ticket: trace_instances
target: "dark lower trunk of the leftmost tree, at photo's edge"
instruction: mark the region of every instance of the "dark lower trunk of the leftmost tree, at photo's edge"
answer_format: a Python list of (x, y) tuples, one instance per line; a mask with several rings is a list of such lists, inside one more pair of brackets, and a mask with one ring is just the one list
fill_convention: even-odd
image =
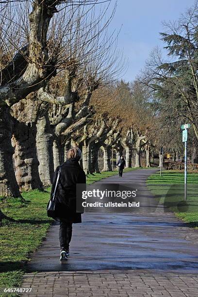
[(14, 148), (11, 138), (10, 108), (7, 105), (0, 106), (0, 196), (20, 197), (13, 166)]

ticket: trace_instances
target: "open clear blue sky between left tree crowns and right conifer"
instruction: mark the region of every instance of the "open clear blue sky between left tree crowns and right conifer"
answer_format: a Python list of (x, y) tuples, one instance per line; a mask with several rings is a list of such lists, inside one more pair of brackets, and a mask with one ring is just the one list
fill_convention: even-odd
[(123, 77), (126, 81), (136, 77), (152, 49), (163, 47), (159, 35), (163, 32), (162, 22), (177, 20), (193, 4), (194, 0), (117, 0), (110, 30), (122, 25), (118, 47), (129, 59), (129, 68)]

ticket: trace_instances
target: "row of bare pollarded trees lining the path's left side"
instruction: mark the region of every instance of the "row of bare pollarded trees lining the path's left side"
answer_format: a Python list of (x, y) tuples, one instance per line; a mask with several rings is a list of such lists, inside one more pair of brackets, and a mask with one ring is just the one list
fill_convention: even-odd
[(110, 4), (1, 3), (0, 196), (50, 185), (71, 146), (82, 149), (86, 173), (99, 171), (99, 148), (112, 170), (113, 145), (127, 166), (132, 148), (140, 166), (144, 148), (149, 166), (153, 114), (145, 87), (116, 82), (126, 63), (108, 32)]

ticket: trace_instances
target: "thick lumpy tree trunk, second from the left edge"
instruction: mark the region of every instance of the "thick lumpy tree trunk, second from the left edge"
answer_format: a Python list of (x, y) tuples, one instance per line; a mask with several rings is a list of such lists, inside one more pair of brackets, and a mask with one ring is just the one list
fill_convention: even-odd
[[(31, 125), (31, 123), (29, 123)], [(15, 121), (12, 144), (15, 148), (14, 164), (16, 181), (20, 190), (43, 190), (38, 172), (38, 159), (36, 156), (36, 125), (32, 127), (23, 122)]]

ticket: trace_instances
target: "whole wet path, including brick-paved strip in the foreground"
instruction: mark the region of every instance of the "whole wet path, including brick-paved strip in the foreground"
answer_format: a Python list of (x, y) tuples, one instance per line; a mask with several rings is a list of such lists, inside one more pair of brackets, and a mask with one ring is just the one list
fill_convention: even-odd
[[(145, 185), (152, 172), (104, 181), (136, 183), (152, 204)], [(55, 223), (28, 264), (23, 287), (32, 286), (30, 296), (198, 296), (198, 232), (160, 206), (152, 213), (85, 213), (70, 249), (60, 264)]]

